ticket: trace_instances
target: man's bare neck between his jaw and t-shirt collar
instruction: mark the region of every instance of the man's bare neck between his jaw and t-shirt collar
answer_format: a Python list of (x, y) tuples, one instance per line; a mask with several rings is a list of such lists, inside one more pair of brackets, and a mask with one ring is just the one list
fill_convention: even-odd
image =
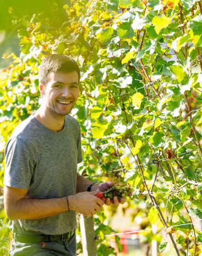
[(65, 116), (58, 115), (51, 109), (45, 108), (43, 105), (36, 111), (34, 116), (41, 124), (55, 132), (61, 131), (64, 127)]

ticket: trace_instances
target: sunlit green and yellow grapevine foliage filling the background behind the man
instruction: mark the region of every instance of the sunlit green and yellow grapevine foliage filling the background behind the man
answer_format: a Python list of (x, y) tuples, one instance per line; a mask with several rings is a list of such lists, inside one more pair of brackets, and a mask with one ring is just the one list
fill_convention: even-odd
[[(61, 19), (43, 10), (20, 16), (14, 5), (8, 9), (18, 28), (20, 54), (5, 54), (11, 64), (0, 73), (0, 186), (5, 143), (40, 104), (41, 59), (63, 53), (81, 67), (81, 95), (72, 111), (81, 126), (84, 161), (79, 172), (100, 174), (96, 179), (101, 181), (103, 175), (114, 178), (120, 169), (134, 189), (128, 203), (134, 209), (132, 218), (146, 214), (147, 228), (201, 219), (201, 3), (51, 3), (53, 17), (63, 13)], [(3, 210), (1, 218), (1, 236), (6, 237)], [(109, 255), (104, 235), (112, 229), (104, 225), (104, 214), (98, 214), (95, 223), (98, 255)], [(184, 255), (187, 250), (189, 255), (199, 254), (201, 233), (194, 225), (166, 230), (167, 242), (158, 238), (160, 252), (174, 243)], [(145, 233), (145, 241), (151, 242), (151, 237)]]

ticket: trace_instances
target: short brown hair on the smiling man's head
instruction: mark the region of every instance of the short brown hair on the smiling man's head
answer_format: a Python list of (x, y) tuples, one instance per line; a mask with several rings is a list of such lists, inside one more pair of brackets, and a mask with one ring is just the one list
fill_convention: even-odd
[(48, 82), (48, 75), (50, 73), (69, 73), (77, 71), (80, 80), (80, 69), (71, 57), (64, 54), (51, 54), (41, 61), (39, 68), (39, 84), (46, 85)]

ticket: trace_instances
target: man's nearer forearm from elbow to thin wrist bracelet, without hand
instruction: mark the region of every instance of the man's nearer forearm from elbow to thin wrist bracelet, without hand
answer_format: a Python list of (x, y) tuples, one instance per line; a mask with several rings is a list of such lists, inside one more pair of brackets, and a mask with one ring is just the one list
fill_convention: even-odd
[(11, 220), (35, 220), (51, 217), (66, 211), (68, 211), (66, 197), (49, 199), (22, 198), (13, 205), (7, 215)]

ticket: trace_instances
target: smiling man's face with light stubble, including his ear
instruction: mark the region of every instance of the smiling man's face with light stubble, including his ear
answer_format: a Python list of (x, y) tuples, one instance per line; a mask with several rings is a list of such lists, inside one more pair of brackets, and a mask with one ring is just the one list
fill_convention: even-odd
[(46, 86), (40, 85), (40, 91), (48, 110), (58, 115), (68, 115), (79, 97), (77, 71), (49, 74)]

